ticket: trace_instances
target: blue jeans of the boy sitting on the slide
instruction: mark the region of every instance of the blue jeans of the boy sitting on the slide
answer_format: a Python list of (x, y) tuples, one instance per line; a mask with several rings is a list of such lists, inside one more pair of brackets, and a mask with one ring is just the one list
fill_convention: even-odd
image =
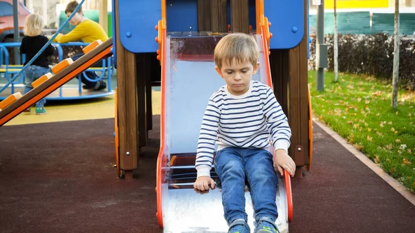
[(246, 182), (250, 189), (255, 220), (278, 217), (275, 197), (277, 173), (273, 166), (273, 155), (265, 149), (225, 147), (216, 152), (214, 158), (216, 174), (222, 184), (222, 205), (228, 224), (241, 218), (248, 221), (245, 212)]

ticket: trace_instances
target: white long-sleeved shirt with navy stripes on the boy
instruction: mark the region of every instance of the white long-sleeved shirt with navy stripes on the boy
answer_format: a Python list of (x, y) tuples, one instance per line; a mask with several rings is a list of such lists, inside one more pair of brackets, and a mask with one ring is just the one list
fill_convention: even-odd
[(224, 147), (290, 147), (291, 129), (269, 86), (252, 81), (247, 93), (232, 95), (225, 86), (209, 100), (196, 153), (197, 176), (210, 176), (215, 144)]

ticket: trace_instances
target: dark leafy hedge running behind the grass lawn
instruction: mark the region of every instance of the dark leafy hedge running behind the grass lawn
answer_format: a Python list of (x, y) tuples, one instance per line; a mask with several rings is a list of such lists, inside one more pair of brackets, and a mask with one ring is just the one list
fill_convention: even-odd
[[(311, 35), (308, 69), (315, 69), (315, 35)], [(324, 38), (329, 45), (329, 66), (333, 71), (333, 35)], [(415, 38), (400, 37), (399, 77), (404, 88), (415, 90)], [(394, 65), (394, 37), (384, 33), (376, 35), (339, 35), (338, 71), (372, 75), (391, 80)]]

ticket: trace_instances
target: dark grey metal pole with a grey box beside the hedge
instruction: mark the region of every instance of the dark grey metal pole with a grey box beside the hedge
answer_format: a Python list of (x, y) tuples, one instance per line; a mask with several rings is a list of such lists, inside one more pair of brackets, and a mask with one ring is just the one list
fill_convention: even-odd
[[(315, 39), (315, 59), (320, 59), (320, 44), (324, 44), (324, 0), (317, 6), (317, 37)], [(317, 49), (318, 48), (318, 49)], [(317, 91), (324, 91), (324, 68), (317, 67)]]

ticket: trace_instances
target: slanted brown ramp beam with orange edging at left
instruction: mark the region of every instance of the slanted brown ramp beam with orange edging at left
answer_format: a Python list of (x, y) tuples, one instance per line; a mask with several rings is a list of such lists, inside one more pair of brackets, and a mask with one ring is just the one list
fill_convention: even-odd
[(110, 55), (111, 48), (112, 39), (109, 38), (89, 53), (86, 53), (84, 56), (77, 59), (73, 64), (62, 69), (62, 71), (59, 71), (59, 73), (53, 75), (53, 77), (50, 77), (50, 79), (46, 80), (36, 88), (33, 88), (33, 90), (20, 97), (5, 109), (2, 109), (0, 111), (0, 127), (9, 120), (12, 120), (12, 118), (15, 118), (15, 116), (19, 115), (24, 109), (32, 106), (37, 101), (73, 79), (73, 77), (76, 77), (96, 62), (99, 62), (102, 58)]

